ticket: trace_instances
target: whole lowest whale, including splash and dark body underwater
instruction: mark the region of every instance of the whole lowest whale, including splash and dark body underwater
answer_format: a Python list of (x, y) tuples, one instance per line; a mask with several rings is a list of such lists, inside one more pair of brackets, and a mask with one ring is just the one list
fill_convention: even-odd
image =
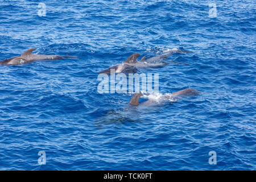
[[(147, 101), (139, 103), (139, 99), (142, 96), (142, 93), (135, 93), (131, 98), (129, 104), (125, 105), (120, 109), (109, 110), (108, 113), (102, 115), (101, 117), (94, 120), (96, 127), (102, 128), (106, 125), (121, 125), (125, 122), (140, 122), (140, 115), (147, 114), (148, 112), (158, 110), (159, 106), (166, 104), (173, 104), (180, 98), (196, 96), (199, 94), (199, 91), (195, 89), (184, 89), (175, 93), (166, 93), (166, 94), (150, 94), (144, 95), (143, 98), (148, 98)], [(153, 109), (153, 110), (152, 110)]]

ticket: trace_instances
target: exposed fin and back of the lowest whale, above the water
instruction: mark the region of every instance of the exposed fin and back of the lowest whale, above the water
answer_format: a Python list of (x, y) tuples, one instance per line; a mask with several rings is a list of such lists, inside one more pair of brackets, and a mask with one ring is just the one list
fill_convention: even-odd
[[(161, 99), (174, 100), (182, 97), (196, 96), (197, 94), (199, 94), (199, 91), (195, 89), (184, 89), (172, 94), (164, 94)], [(139, 98), (141, 98), (141, 96), (142, 96), (141, 92), (135, 93), (134, 96), (131, 98), (129, 104), (133, 106), (138, 106), (138, 105), (151, 105), (151, 104), (156, 104), (156, 102), (158, 102), (156, 100), (147, 100), (145, 102), (139, 103)]]

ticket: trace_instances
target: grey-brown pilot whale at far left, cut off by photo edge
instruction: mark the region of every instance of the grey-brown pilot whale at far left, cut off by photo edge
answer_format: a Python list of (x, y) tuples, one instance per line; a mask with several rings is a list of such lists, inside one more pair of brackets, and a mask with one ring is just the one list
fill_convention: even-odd
[(36, 55), (33, 54), (32, 51), (35, 51), (36, 48), (31, 48), (25, 51), (22, 55), (11, 57), (9, 59), (5, 59), (0, 61), (0, 64), (4, 65), (18, 65), (18, 64), (26, 64), (32, 63), (34, 61), (43, 61), (43, 60), (61, 60), (65, 58), (73, 58), (77, 59), (77, 57), (73, 56), (60, 56), (60, 55)]

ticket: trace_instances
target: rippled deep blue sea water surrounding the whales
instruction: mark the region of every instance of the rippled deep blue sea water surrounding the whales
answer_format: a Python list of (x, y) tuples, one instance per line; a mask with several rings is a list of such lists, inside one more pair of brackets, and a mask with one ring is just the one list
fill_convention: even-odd
[[(1, 0), (0, 60), (33, 47), (80, 59), (0, 66), (0, 169), (255, 170), (255, 5)], [(139, 69), (159, 74), (159, 93), (141, 101), (186, 88), (198, 96), (131, 107), (132, 93), (98, 93), (99, 71), (172, 48), (192, 52)]]

